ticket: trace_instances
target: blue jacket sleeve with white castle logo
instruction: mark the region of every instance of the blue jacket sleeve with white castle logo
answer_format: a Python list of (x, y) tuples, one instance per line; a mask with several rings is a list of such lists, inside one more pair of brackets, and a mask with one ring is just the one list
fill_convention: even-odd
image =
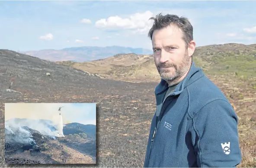
[(236, 167), (241, 162), (238, 118), (228, 101), (211, 101), (193, 118), (198, 167)]

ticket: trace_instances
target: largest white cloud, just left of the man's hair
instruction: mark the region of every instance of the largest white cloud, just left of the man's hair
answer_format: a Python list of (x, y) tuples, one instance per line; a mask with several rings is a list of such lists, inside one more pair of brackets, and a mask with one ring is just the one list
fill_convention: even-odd
[(131, 29), (134, 33), (144, 33), (152, 26), (153, 21), (149, 20), (150, 17), (153, 17), (153, 13), (149, 10), (144, 13), (134, 13), (128, 18), (110, 16), (107, 19), (100, 19), (96, 21), (95, 26), (97, 28)]

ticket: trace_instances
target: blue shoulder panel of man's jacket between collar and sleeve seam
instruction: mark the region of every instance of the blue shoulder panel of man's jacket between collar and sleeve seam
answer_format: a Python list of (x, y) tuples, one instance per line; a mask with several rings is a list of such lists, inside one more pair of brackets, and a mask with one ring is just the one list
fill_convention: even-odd
[(226, 101), (227, 105), (230, 105), (221, 89), (206, 76), (202, 76), (186, 89), (189, 94), (190, 113), (192, 116), (196, 115), (206, 105), (211, 105), (211, 102), (214, 101)]

